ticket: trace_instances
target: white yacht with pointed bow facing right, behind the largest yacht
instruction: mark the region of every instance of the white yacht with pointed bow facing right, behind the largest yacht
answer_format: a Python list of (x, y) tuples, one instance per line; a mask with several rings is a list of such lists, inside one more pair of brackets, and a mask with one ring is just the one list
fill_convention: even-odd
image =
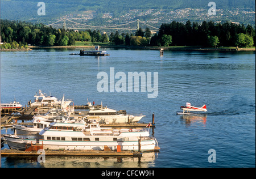
[(131, 114), (119, 114), (117, 110), (109, 108), (90, 109), (88, 114), (90, 119), (96, 120), (99, 123), (107, 124), (127, 123), (128, 120), (130, 122), (138, 122), (144, 117), (144, 115), (133, 116)]

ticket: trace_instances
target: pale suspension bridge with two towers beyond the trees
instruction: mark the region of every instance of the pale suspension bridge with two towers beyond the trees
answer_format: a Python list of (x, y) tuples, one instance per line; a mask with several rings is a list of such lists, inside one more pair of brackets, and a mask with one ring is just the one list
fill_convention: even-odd
[[(69, 23), (66, 23), (69, 22)], [(112, 25), (112, 26), (94, 26), (94, 25), (88, 25), (88, 24), (82, 24), (82, 23), (78, 23), (78, 22), (74, 22), (73, 20), (69, 20), (67, 18), (63, 18), (60, 20), (57, 20), (54, 23), (48, 24), (46, 26), (50, 26), (50, 25), (61, 25), (61, 23), (63, 24), (63, 28), (64, 29), (122, 29), (122, 30), (129, 30), (129, 31), (137, 31), (139, 29), (139, 27), (148, 27), (150, 29), (151, 32), (158, 32), (159, 28), (154, 27), (152, 25), (146, 24), (144, 22), (142, 22), (141, 20), (137, 19), (137, 20), (133, 20), (129, 23), (125, 23), (125, 24), (120, 24), (120, 25)], [(69, 27), (67, 28), (67, 26), (69, 25)], [(145, 29), (142, 30), (144, 31)]]

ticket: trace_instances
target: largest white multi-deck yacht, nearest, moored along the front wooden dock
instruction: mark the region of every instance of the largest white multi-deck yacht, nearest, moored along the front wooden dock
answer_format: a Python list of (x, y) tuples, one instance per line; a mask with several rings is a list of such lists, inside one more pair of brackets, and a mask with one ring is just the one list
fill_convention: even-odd
[(26, 145), (36, 142), (49, 150), (104, 150), (108, 146), (111, 150), (138, 151), (138, 140), (141, 139), (142, 151), (154, 151), (157, 145), (155, 138), (149, 137), (146, 129), (112, 129), (100, 127), (90, 123), (51, 123), (49, 127), (40, 131), (38, 137), (20, 137), (6, 135), (5, 139), (10, 148), (24, 150)]

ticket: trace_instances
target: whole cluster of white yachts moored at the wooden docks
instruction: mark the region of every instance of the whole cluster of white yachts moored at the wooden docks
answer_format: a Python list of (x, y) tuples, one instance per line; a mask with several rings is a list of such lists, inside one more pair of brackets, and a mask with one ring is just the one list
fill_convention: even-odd
[[(138, 128), (150, 128), (150, 123), (146, 126), (137, 125), (137, 122), (144, 116), (127, 115), (126, 110), (120, 110), (122, 113), (120, 114), (117, 110), (104, 107), (102, 103), (94, 108), (94, 102), (92, 105), (88, 100), (84, 106), (88, 106), (89, 111), (75, 112), (75, 105), (73, 108), (69, 106), (72, 101), (65, 101), (64, 95), (62, 100), (57, 100), (54, 96), (44, 95), (41, 90), (39, 90), (39, 95), (36, 94), (34, 97), (35, 102), (28, 101), (30, 106), (28, 108), (26, 106), (22, 114), (16, 115), (13, 122), (11, 120), (14, 114), (9, 120), (4, 121), (5, 125), (1, 126), (1, 128), (13, 127), (14, 129), (14, 134), (2, 135), (1, 147), (6, 142), (10, 148), (10, 150), (5, 150), (6, 153), (3, 152), (4, 155), (27, 155), (28, 151), (46, 149), (51, 151), (47, 155), (56, 154), (56, 151), (57, 155), (77, 155), (77, 150), (82, 150), (110, 153), (81, 152), (81, 155), (134, 156), (134, 152), (121, 151), (154, 152), (160, 150), (157, 140), (149, 137), (150, 134), (146, 129)], [(84, 107), (79, 107), (81, 108)], [(26, 119), (30, 116), (32, 123), (18, 124), (17, 121), (21, 116)], [(100, 123), (111, 125), (113, 128), (102, 127)], [(119, 153), (115, 154), (114, 151)], [(30, 155), (35, 154), (30, 153)]]

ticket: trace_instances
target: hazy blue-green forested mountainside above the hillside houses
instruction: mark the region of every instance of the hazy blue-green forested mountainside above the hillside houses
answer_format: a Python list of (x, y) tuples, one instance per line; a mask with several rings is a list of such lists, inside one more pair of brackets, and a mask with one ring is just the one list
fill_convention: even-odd
[[(93, 18), (101, 18), (102, 14), (112, 14), (118, 18), (127, 14), (130, 10), (164, 9), (175, 10), (177, 8), (205, 8), (208, 10), (210, 0), (42, 0), (46, 4), (46, 15), (39, 16), (38, 2), (32, 0), (2, 0), (1, 19), (24, 20), (28, 22), (41, 22), (47, 24), (65, 15), (83, 14), (85, 11), (93, 11)], [(233, 10), (234, 8), (249, 8), (255, 11), (254, 0), (214, 0), (216, 8)]]

